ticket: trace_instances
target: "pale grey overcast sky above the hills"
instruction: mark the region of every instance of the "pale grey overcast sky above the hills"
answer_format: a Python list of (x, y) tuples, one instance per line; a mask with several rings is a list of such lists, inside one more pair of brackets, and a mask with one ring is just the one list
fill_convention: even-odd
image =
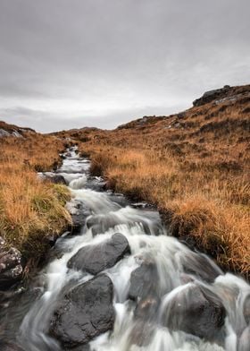
[(114, 128), (250, 83), (249, 0), (0, 0), (0, 120)]

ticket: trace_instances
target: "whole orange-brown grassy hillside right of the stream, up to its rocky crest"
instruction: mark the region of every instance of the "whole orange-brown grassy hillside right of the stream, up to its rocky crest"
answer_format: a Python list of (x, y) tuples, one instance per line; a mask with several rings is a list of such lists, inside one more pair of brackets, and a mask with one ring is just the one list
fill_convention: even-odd
[(175, 115), (56, 135), (79, 141), (115, 191), (154, 203), (172, 235), (249, 275), (250, 85), (206, 92)]

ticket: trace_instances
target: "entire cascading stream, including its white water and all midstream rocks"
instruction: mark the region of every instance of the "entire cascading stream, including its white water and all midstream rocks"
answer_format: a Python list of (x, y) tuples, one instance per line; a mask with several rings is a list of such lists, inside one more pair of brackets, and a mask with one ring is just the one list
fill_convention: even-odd
[(73, 231), (2, 309), (1, 350), (249, 351), (246, 281), (168, 235), (154, 208), (104, 190), (89, 168), (67, 150), (56, 173), (71, 189)]

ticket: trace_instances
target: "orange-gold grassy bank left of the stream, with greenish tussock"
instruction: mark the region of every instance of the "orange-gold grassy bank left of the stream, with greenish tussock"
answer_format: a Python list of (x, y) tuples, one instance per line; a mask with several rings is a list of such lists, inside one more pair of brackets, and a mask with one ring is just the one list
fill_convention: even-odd
[(68, 189), (37, 178), (37, 171), (60, 163), (63, 141), (27, 133), (25, 139), (6, 137), (0, 142), (0, 235), (27, 261), (39, 261), (49, 247), (49, 236), (61, 234), (71, 221), (64, 209)]

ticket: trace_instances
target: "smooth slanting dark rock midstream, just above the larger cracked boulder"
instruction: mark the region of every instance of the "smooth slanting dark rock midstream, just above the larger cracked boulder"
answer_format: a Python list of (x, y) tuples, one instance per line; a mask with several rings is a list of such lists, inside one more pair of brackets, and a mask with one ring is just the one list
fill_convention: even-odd
[(104, 243), (87, 245), (79, 249), (67, 266), (74, 270), (84, 270), (97, 274), (114, 266), (122, 257), (129, 253), (129, 242), (124, 235), (114, 234)]

